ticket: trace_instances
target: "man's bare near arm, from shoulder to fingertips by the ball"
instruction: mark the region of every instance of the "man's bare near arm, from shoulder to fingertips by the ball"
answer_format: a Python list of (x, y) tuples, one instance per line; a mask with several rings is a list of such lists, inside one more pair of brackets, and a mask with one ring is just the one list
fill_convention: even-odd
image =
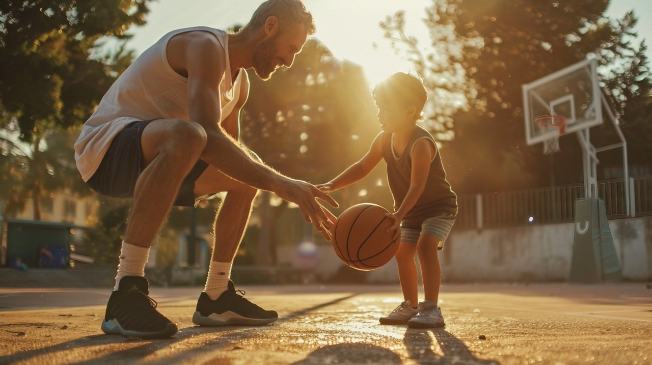
[(316, 197), (337, 207), (334, 199), (308, 182), (289, 179), (252, 160), (220, 125), (219, 84), (224, 72), (231, 70), (226, 69), (224, 50), (218, 47), (215, 36), (203, 31), (182, 33), (171, 38), (167, 55), (172, 68), (188, 78), (190, 120), (206, 131), (201, 158), (237, 181), (297, 204), (306, 221), (322, 231), (327, 217)]

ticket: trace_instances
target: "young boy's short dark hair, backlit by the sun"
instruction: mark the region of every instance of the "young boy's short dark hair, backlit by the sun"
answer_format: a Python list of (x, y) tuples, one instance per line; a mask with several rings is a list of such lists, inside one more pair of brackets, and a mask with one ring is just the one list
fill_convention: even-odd
[(373, 93), (376, 100), (391, 100), (406, 108), (415, 106), (417, 116), (421, 115), (428, 98), (428, 93), (421, 80), (404, 72), (396, 72), (396, 74), (377, 83)]

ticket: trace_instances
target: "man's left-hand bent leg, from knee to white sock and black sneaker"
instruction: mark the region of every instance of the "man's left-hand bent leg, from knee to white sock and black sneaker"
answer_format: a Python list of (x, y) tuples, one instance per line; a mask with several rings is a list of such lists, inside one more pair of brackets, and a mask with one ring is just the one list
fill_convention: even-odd
[(177, 332), (176, 325), (156, 311), (156, 302), (149, 298), (145, 263), (149, 246), (170, 211), (181, 182), (205, 144), (203, 128), (182, 119), (159, 119), (142, 130), (141, 161), (134, 163), (140, 163), (143, 170), (136, 181), (115, 290), (102, 322), (104, 332), (141, 338), (166, 337)]

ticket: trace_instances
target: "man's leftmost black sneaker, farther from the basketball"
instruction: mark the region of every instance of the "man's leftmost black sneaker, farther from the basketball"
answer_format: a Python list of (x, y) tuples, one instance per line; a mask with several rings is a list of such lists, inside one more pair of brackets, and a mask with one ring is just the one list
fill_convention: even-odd
[(120, 279), (117, 291), (111, 293), (106, 304), (102, 331), (125, 337), (170, 337), (177, 333), (177, 325), (158, 313), (156, 301), (149, 297), (149, 284), (142, 276)]

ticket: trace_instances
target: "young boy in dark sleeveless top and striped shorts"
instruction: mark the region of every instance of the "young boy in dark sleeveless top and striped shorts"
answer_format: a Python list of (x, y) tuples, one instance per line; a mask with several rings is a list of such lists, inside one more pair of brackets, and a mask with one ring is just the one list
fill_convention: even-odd
[[(368, 175), (381, 159), (387, 162), (395, 210), (387, 214), (394, 221), (388, 231), (393, 230), (395, 237), (400, 235), (396, 263), (404, 302), (387, 317), (380, 318), (383, 325), (444, 325), (441, 308), (437, 306), (441, 282), (437, 251), (443, 248), (455, 222), (457, 196), (446, 180), (434, 139), (416, 124), (426, 98), (421, 81), (408, 74), (399, 72), (378, 83), (374, 99), (383, 132), (376, 136), (361, 160), (330, 182), (318, 185), (325, 192), (333, 192)], [(421, 264), (423, 302), (417, 301), (415, 253)]]

